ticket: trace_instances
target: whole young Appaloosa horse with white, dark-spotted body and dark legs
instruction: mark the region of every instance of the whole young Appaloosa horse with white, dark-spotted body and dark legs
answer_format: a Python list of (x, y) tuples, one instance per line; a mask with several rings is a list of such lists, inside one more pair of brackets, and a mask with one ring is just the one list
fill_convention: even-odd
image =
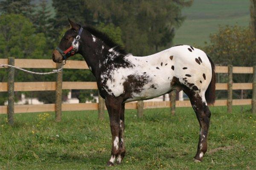
[(194, 159), (202, 161), (211, 116), (207, 104), (215, 102), (215, 67), (207, 54), (189, 45), (176, 45), (157, 54), (136, 57), (127, 54), (108, 35), (70, 20), (69, 23), (71, 28), (52, 52), (52, 60), (62, 62), (79, 53), (96, 77), (112, 133), (107, 165), (113, 165), (115, 159), (120, 164), (125, 156), (125, 103), (152, 99), (173, 90), (183, 90), (196, 113), (200, 134)]

